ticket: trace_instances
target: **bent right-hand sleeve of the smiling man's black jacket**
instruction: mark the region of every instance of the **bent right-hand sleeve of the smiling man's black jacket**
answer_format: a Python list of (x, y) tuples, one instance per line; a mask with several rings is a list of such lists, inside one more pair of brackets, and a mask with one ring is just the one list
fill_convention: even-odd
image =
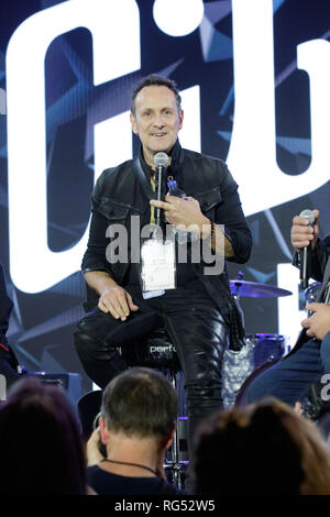
[(216, 210), (216, 221), (224, 226), (224, 234), (230, 240), (234, 256), (227, 258), (243, 264), (248, 262), (252, 250), (252, 235), (242, 210), (238, 185), (224, 163), (220, 186), (222, 202)]

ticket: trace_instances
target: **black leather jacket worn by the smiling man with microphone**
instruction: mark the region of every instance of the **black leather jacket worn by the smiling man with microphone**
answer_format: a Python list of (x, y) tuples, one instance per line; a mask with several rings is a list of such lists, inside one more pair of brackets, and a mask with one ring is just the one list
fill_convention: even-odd
[[(140, 165), (138, 163), (140, 162)], [(128, 231), (129, 257), (131, 217), (139, 216), (141, 227), (150, 222), (150, 199), (155, 194), (150, 185), (150, 170), (142, 157), (124, 162), (114, 168), (106, 169), (99, 177), (92, 193), (92, 218), (87, 251), (82, 258), (82, 271), (106, 271), (122, 285), (129, 264), (117, 262), (110, 264), (106, 257), (106, 249), (110, 239), (106, 237), (107, 228), (113, 223), (124, 224)], [(178, 141), (172, 151), (170, 170), (178, 186), (200, 204), (202, 213), (219, 224), (224, 224), (226, 235), (232, 243), (233, 262), (244, 263), (249, 260), (252, 249), (252, 237), (241, 208), (238, 185), (233, 180), (226, 163), (184, 150)], [(204, 264), (194, 264), (195, 272), (210, 296), (217, 302), (222, 316), (230, 323), (233, 312), (238, 317), (235, 304), (230, 295), (227, 271), (221, 275), (204, 275)], [(97, 305), (98, 296), (88, 288), (86, 310)], [(234, 323), (240, 321), (234, 318)], [(240, 318), (239, 318), (240, 319)]]

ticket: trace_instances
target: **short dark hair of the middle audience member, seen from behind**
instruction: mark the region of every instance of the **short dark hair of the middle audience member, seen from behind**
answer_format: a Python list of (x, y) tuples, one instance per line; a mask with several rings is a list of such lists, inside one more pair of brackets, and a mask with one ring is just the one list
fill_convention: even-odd
[(133, 367), (106, 387), (101, 411), (111, 432), (129, 438), (152, 438), (165, 444), (177, 418), (177, 395), (161, 373)]

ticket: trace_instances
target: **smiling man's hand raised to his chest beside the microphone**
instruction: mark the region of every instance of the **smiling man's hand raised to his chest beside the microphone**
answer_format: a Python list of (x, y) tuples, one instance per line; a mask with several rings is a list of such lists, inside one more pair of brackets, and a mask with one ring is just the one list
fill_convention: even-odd
[(166, 220), (179, 230), (191, 231), (200, 237), (202, 227), (210, 227), (209, 219), (200, 210), (199, 201), (193, 197), (183, 199), (176, 196), (166, 196), (165, 201), (152, 199), (150, 204), (162, 208)]

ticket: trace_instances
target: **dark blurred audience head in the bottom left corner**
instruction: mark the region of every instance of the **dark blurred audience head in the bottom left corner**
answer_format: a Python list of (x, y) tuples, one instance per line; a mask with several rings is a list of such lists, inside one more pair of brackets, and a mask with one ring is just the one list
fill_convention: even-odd
[(85, 494), (76, 415), (57, 386), (28, 377), (0, 408), (1, 494)]

